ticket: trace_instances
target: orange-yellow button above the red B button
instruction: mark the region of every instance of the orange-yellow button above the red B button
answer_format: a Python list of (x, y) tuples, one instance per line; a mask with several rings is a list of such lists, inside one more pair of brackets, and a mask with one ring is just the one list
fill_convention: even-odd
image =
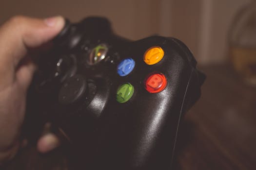
[(148, 65), (157, 64), (163, 55), (164, 51), (161, 47), (151, 47), (144, 54), (144, 62)]

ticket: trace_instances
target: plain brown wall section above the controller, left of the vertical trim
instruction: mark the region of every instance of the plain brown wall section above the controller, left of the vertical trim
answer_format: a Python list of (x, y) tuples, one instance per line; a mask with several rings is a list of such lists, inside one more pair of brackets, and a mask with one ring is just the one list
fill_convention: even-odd
[(0, 23), (13, 15), (62, 15), (72, 21), (87, 16), (108, 17), (118, 34), (138, 39), (157, 32), (158, 0), (4, 0)]

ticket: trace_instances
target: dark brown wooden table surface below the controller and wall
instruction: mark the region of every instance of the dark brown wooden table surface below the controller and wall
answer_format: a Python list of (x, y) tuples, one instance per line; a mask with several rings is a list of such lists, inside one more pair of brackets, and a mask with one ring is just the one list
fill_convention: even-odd
[[(180, 170), (256, 170), (256, 87), (227, 65), (202, 67), (202, 96), (180, 129)], [(48, 154), (28, 146), (5, 170), (68, 170), (62, 148)]]

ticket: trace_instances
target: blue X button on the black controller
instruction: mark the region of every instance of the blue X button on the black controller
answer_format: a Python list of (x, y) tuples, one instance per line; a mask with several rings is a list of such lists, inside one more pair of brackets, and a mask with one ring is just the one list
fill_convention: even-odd
[(120, 76), (126, 76), (132, 72), (135, 67), (135, 61), (132, 58), (126, 58), (122, 60), (118, 65), (118, 74)]

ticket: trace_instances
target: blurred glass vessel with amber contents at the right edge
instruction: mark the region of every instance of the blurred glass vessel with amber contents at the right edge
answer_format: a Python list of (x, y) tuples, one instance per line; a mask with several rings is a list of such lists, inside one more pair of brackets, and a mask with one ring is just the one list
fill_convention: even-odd
[(236, 72), (246, 84), (256, 86), (256, 0), (238, 11), (229, 45)]

